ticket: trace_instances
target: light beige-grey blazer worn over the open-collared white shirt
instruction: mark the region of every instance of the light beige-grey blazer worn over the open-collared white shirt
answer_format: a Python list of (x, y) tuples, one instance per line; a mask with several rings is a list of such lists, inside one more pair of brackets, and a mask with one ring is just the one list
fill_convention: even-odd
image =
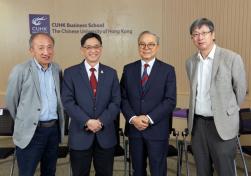
[[(190, 82), (190, 102), (188, 129), (192, 132), (195, 98), (198, 84), (198, 53), (186, 61), (186, 71)], [(239, 130), (239, 109), (247, 91), (244, 64), (240, 55), (216, 46), (210, 98), (214, 123), (223, 140), (234, 138)]]

